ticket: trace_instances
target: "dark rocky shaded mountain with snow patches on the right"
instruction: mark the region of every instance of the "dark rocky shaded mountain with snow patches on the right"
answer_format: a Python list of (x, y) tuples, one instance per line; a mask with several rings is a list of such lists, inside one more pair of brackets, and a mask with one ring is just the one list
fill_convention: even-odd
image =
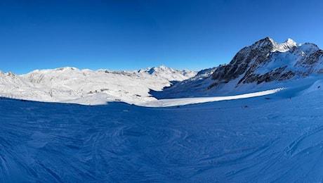
[(212, 73), (197, 73), (195, 77), (173, 84), (163, 92), (154, 92), (154, 95), (166, 99), (270, 88), (278, 82), (323, 73), (323, 51), (312, 43), (296, 44), (287, 39), (278, 44), (266, 37), (238, 51), (230, 63), (209, 71)]

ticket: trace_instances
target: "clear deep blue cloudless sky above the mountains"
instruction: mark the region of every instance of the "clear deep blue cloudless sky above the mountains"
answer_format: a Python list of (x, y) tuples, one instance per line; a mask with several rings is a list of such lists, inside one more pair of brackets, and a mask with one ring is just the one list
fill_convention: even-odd
[(0, 1), (0, 70), (229, 63), (258, 39), (323, 46), (323, 1)]

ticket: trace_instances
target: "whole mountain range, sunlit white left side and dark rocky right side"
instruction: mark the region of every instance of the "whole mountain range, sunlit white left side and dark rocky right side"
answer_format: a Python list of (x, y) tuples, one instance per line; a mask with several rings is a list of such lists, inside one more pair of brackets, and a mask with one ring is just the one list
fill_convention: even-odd
[(228, 64), (193, 72), (162, 65), (138, 71), (34, 70), (0, 72), (0, 95), (33, 101), (95, 105), (107, 101), (145, 103), (157, 99), (221, 96), (272, 89), (289, 80), (323, 73), (323, 51), (292, 39), (265, 37), (246, 46)]

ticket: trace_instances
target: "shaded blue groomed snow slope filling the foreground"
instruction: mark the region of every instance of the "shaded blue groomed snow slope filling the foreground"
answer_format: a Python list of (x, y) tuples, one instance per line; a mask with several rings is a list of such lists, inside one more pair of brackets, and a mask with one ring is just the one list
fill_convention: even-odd
[(323, 82), (303, 81), (166, 108), (3, 98), (0, 182), (322, 182)]

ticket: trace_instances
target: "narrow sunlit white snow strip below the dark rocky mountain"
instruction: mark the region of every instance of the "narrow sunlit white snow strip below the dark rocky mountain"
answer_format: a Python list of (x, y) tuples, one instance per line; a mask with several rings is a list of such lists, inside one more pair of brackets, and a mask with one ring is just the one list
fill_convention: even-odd
[(265, 96), (269, 94), (275, 94), (285, 88), (269, 89), (263, 92), (254, 92), (249, 94), (239, 94), (234, 96), (213, 96), (213, 97), (194, 97), (194, 98), (182, 98), (182, 99), (162, 99), (158, 101), (152, 101), (149, 103), (136, 103), (138, 106), (146, 107), (171, 107), (171, 106), (183, 106), (195, 103), (205, 103), (211, 101), (226, 101), (235, 99), (246, 99), (255, 96)]

